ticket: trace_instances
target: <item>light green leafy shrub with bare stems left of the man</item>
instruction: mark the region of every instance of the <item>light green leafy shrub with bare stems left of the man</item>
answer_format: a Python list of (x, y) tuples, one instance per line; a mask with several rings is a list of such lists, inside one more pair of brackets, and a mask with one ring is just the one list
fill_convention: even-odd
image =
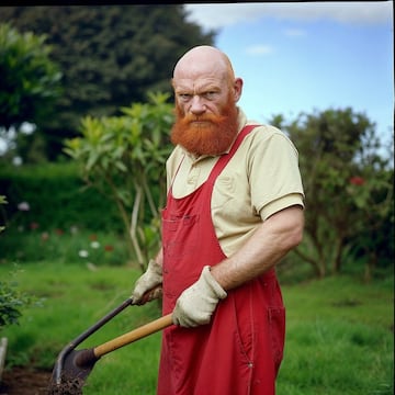
[(160, 238), (159, 210), (166, 198), (165, 163), (172, 149), (173, 123), (169, 95), (150, 93), (149, 99), (122, 108), (122, 116), (84, 117), (82, 136), (65, 143), (86, 183), (114, 201), (143, 269)]

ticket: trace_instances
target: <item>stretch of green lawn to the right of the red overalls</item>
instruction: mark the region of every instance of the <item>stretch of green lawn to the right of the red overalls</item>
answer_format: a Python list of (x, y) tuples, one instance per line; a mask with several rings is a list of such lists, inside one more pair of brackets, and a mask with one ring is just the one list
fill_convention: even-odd
[(285, 287), (279, 394), (393, 394), (393, 284), (337, 276)]

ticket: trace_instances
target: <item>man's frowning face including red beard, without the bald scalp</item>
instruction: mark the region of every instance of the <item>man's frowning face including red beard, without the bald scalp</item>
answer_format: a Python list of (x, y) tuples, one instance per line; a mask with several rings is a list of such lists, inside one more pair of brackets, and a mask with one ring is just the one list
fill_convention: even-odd
[(238, 132), (233, 89), (219, 72), (190, 76), (173, 80), (177, 121), (171, 140), (198, 156), (223, 154)]

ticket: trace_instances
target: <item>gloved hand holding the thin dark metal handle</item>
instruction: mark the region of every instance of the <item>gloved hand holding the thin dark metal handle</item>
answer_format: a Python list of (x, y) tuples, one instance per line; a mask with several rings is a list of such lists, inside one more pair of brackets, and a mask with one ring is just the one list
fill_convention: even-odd
[(138, 278), (132, 292), (132, 304), (142, 305), (161, 296), (162, 268), (154, 259), (146, 272)]

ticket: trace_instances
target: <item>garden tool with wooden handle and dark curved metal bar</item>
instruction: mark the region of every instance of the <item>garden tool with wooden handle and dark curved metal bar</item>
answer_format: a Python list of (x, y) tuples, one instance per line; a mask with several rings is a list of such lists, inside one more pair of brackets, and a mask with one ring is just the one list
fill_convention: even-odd
[(106, 353), (129, 345), (148, 335), (153, 335), (172, 324), (171, 314), (160, 317), (151, 323), (143, 325), (129, 332), (91, 349), (76, 350), (75, 348), (95, 332), (111, 318), (129, 306), (132, 298), (127, 298), (119, 307), (113, 309), (97, 324), (72, 340), (59, 353), (54, 365), (48, 394), (49, 395), (80, 395), (86, 379), (92, 371), (94, 363)]

